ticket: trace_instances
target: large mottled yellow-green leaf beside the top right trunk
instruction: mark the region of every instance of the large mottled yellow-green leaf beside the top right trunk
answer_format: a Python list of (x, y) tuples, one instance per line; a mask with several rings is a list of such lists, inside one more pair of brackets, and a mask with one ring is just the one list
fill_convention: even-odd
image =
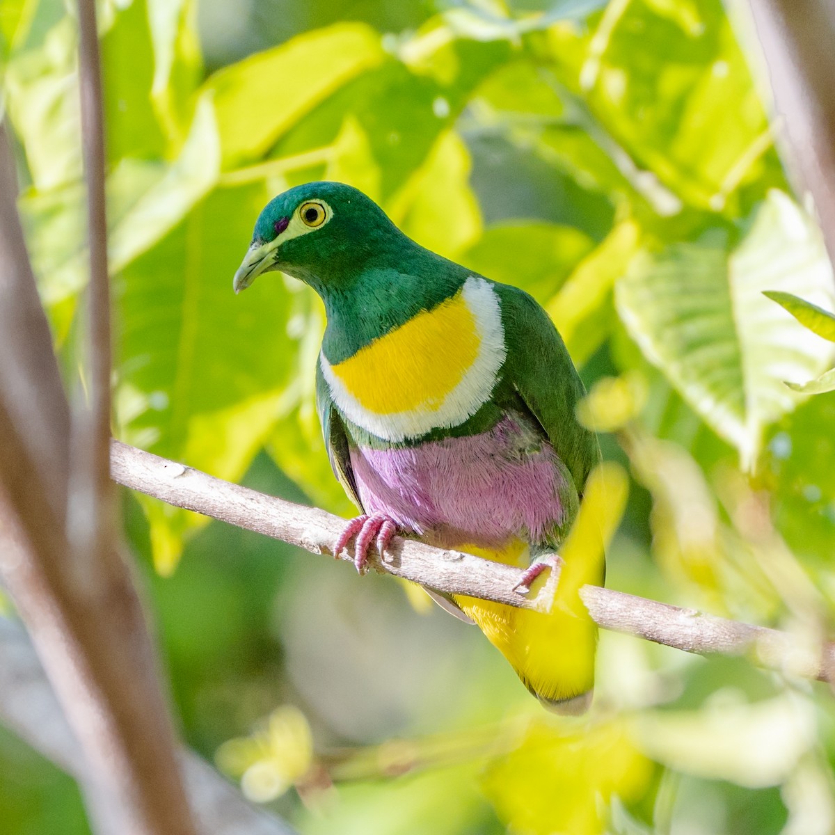
[[(720, 0), (610, 3), (589, 36), (549, 36), (560, 78), (620, 156), (681, 199), (723, 210), (765, 172), (771, 133)], [(759, 195), (767, 185), (781, 175)]]

